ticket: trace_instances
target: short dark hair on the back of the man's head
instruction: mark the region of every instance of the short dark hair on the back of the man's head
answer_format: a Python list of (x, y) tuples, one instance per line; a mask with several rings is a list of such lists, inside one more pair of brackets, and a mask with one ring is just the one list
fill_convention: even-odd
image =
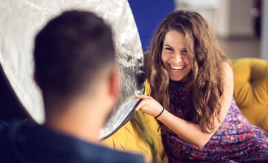
[(111, 28), (92, 12), (63, 12), (36, 36), (35, 75), (44, 96), (79, 94), (114, 60)]

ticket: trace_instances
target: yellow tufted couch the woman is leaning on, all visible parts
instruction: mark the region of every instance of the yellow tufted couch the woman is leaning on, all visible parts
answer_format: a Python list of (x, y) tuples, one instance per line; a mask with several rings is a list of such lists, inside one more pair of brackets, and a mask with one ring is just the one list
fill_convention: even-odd
[[(268, 62), (257, 58), (232, 60), (234, 98), (249, 122), (268, 132)], [(148, 95), (148, 85), (145, 93)], [(102, 143), (115, 150), (142, 153), (147, 162), (168, 162), (155, 118), (135, 112), (113, 136)]]

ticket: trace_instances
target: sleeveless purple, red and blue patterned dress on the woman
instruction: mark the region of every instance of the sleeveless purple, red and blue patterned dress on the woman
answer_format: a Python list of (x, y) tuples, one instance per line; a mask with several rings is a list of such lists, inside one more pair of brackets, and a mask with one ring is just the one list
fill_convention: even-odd
[[(169, 112), (185, 119), (188, 99), (183, 86), (170, 81)], [(225, 120), (204, 147), (184, 141), (161, 123), (160, 127), (169, 162), (268, 162), (268, 135), (249, 124), (234, 99)]]

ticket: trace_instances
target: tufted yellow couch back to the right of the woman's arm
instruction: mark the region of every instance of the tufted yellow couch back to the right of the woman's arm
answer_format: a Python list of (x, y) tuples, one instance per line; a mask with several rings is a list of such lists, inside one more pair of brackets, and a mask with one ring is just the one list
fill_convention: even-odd
[(250, 123), (268, 132), (268, 62), (240, 58), (232, 66), (236, 104)]

